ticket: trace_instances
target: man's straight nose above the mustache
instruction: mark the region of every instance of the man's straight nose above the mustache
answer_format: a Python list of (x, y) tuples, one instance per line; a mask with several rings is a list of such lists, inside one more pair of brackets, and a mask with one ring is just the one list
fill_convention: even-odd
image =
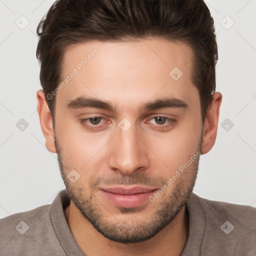
[(117, 134), (108, 145), (108, 164), (116, 172), (129, 175), (134, 171), (144, 170), (149, 165), (148, 149), (143, 144), (141, 134), (134, 125), (123, 131), (116, 127)]

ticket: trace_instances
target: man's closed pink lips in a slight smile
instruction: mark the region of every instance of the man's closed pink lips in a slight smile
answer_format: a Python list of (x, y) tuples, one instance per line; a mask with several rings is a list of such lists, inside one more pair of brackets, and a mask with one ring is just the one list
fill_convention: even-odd
[(101, 193), (111, 203), (119, 207), (137, 207), (149, 202), (149, 196), (157, 189), (143, 186), (114, 186), (102, 187)]

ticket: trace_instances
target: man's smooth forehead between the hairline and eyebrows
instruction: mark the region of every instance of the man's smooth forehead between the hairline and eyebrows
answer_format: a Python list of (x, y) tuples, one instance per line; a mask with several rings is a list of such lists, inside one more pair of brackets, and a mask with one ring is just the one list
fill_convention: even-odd
[(199, 101), (191, 83), (192, 57), (186, 43), (156, 38), (74, 44), (63, 55), (64, 86), (56, 100), (64, 105), (96, 96), (123, 106), (162, 96)]

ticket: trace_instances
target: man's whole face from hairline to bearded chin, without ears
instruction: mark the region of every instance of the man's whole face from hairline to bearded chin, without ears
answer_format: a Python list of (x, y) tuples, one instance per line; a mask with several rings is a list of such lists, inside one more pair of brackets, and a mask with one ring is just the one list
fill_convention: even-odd
[(183, 42), (153, 38), (65, 51), (68, 81), (55, 95), (59, 167), (71, 201), (108, 239), (154, 236), (192, 191), (202, 142), (192, 55)]

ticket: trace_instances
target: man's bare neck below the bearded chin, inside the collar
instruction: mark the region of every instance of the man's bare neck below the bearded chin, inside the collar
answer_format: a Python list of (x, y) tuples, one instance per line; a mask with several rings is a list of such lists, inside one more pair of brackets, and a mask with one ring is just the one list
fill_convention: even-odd
[(76, 206), (64, 210), (65, 218), (76, 243), (86, 255), (181, 255), (188, 236), (188, 213), (184, 206), (175, 219), (152, 238), (134, 244), (111, 241), (87, 221)]

